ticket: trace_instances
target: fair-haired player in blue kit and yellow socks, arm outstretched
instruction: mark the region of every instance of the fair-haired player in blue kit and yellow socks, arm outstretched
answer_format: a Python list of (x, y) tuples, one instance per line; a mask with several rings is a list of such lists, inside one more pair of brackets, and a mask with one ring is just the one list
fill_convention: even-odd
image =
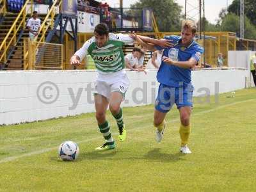
[(191, 68), (200, 60), (204, 49), (194, 41), (196, 24), (192, 20), (182, 21), (181, 36), (166, 36), (172, 46), (164, 48), (154, 46), (155, 40), (145, 36), (133, 35), (136, 40), (152, 51), (164, 49), (162, 62), (157, 72), (159, 90), (154, 112), (154, 126), (156, 127), (156, 141), (163, 139), (166, 113), (176, 104), (180, 112), (180, 152), (190, 154), (188, 139), (191, 130), (189, 118), (193, 107), (191, 84)]

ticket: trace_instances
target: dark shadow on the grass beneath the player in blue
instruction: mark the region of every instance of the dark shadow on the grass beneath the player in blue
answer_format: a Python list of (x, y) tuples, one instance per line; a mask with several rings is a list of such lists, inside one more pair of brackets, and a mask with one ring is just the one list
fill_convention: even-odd
[(166, 154), (160, 152), (160, 148), (154, 148), (147, 152), (143, 157), (144, 159), (150, 159), (153, 161), (165, 161), (165, 162), (174, 162), (174, 161), (184, 161), (184, 159), (180, 158), (185, 156), (185, 154), (182, 154), (180, 152), (177, 152), (176, 154)]

